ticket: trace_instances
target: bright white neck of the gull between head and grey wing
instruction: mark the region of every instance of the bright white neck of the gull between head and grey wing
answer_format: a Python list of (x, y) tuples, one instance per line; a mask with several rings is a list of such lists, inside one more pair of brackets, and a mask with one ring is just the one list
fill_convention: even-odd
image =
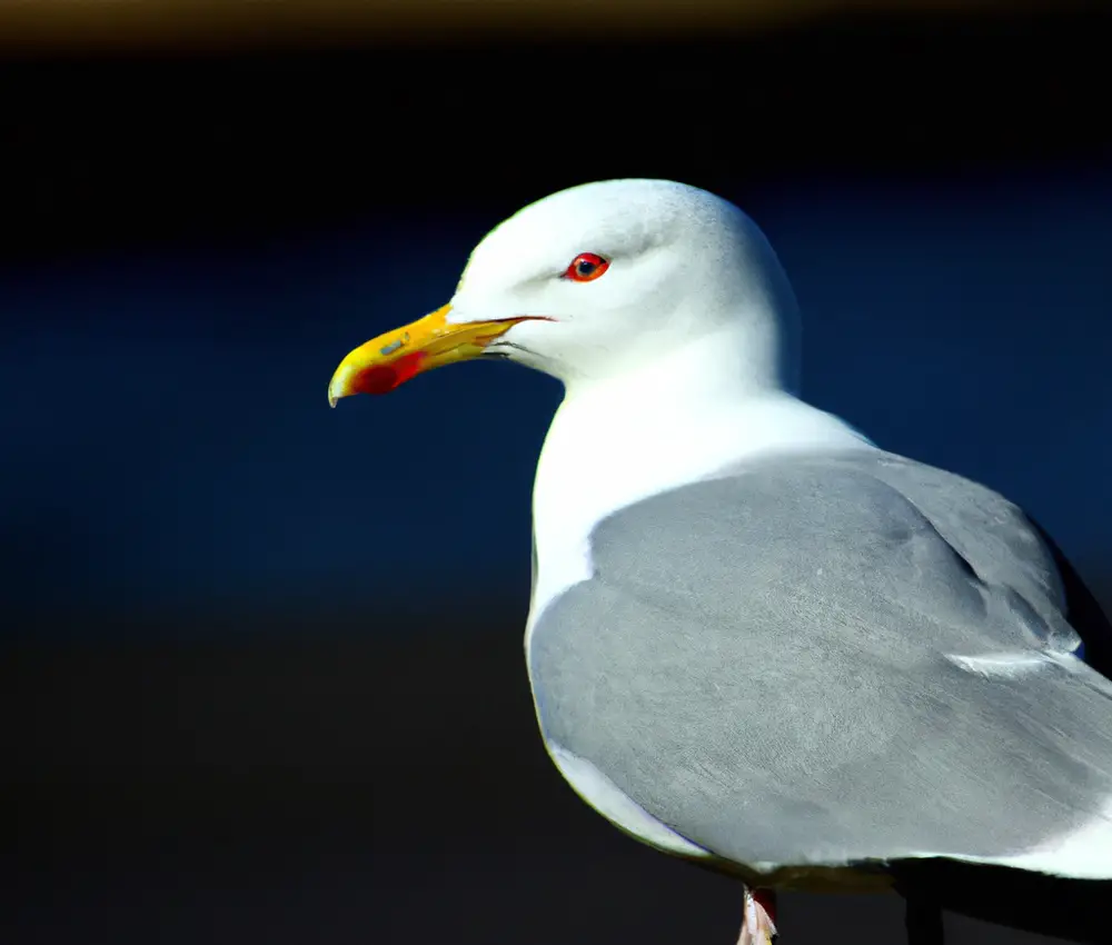
[(590, 576), (588, 539), (612, 513), (757, 455), (870, 446), (774, 380), (737, 372), (714, 348), (722, 340), (707, 338), (644, 369), (568, 387), (533, 490), (530, 631), (548, 603)]

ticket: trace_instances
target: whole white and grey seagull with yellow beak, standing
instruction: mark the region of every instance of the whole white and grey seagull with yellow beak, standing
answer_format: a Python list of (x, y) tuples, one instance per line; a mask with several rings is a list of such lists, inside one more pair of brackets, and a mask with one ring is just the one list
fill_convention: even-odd
[[(1112, 627), (1050, 536), (802, 400), (800, 317), (733, 203), (546, 197), (450, 301), (357, 347), (329, 402), (471, 358), (560, 380), (525, 656), (545, 747), (637, 840), (775, 892), (895, 892), (1112, 941)], [(1103, 916), (1103, 918), (1102, 918)]]

